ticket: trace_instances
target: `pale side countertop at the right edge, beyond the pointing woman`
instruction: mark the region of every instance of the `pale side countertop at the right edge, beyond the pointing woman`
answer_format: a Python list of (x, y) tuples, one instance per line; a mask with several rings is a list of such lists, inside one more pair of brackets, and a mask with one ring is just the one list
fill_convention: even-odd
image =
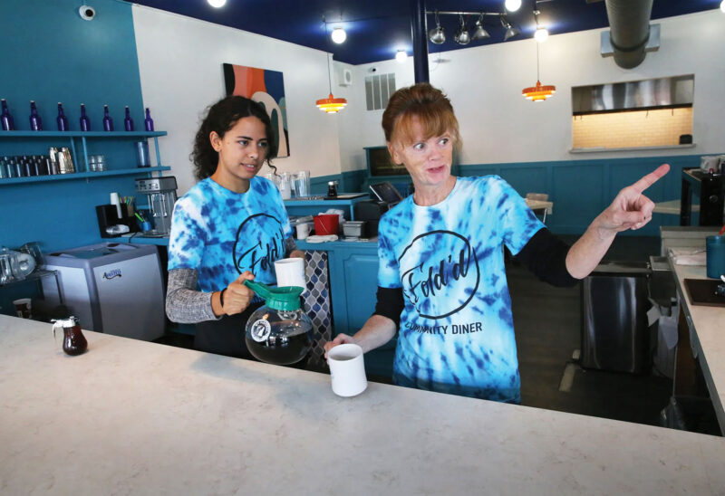
[[(675, 265), (677, 292), (683, 303), (682, 309), (689, 320), (691, 346), (700, 361), (710, 399), (718, 416), (720, 431), (725, 433), (725, 307), (693, 305), (685, 289), (685, 279), (707, 279), (705, 267), (700, 265)], [(723, 461), (725, 463), (725, 460)]]

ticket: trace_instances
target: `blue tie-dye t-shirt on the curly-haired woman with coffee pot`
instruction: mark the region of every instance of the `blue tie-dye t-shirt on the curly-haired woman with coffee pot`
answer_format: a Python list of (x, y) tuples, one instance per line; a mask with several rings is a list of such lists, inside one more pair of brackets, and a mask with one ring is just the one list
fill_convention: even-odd
[(174, 205), (169, 271), (198, 271), (200, 291), (220, 291), (250, 271), (255, 281), (275, 284), (275, 261), (285, 258), (292, 235), (282, 196), (272, 182), (252, 177), (235, 193), (208, 177)]

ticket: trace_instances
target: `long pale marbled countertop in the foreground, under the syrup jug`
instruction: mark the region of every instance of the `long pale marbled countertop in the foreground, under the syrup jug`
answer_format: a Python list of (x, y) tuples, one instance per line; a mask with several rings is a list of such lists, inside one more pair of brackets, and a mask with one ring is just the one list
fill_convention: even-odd
[(5, 494), (723, 494), (725, 439), (0, 316)]

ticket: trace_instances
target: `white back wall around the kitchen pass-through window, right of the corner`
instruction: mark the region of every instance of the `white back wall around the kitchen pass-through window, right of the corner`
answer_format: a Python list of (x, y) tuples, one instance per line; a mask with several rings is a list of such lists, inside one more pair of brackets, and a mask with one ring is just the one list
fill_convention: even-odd
[[(555, 84), (556, 95), (543, 103), (532, 103), (521, 96), (523, 88), (536, 83), (533, 39), (430, 54), (430, 83), (449, 95), (459, 119), (463, 138), (459, 163), (705, 155), (725, 151), (725, 57), (721, 53), (725, 46), (725, 14), (715, 9), (653, 23), (662, 27), (660, 49), (647, 53), (644, 62), (629, 71), (618, 67), (612, 57), (599, 54), (599, 33), (604, 30), (549, 36), (541, 45), (541, 82)], [(437, 62), (439, 59), (443, 62)], [(361, 104), (350, 105), (341, 115), (343, 170), (365, 167), (362, 147), (384, 144), (382, 110), (364, 110), (362, 81), (372, 67), (378, 73), (395, 72), (398, 88), (414, 80), (411, 58), (405, 64), (386, 61), (355, 66), (356, 84), (351, 89), (354, 88), (355, 98), (361, 93)], [(690, 73), (695, 74), (695, 148), (569, 153), (572, 86)]]

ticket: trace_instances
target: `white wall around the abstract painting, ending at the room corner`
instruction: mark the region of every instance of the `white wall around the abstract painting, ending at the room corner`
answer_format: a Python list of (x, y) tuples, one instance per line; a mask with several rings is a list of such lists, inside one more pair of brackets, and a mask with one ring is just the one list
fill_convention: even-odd
[(196, 183), (189, 153), (202, 112), (224, 97), (223, 63), (283, 72), (290, 157), (275, 160), (280, 171), (340, 172), (338, 116), (314, 106), (328, 94), (324, 52), (140, 5), (133, 24), (143, 101), (156, 129), (169, 131), (160, 153), (179, 195)]

